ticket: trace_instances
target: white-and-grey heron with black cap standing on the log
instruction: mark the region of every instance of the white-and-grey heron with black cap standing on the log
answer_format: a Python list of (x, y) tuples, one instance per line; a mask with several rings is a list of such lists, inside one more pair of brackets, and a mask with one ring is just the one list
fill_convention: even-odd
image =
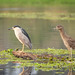
[(9, 28), (8, 30), (11, 30), (11, 29), (14, 30), (15, 36), (23, 44), (22, 51), (24, 50), (24, 45), (32, 49), (31, 39), (23, 28), (16, 25), (16, 26), (13, 26), (12, 28)]

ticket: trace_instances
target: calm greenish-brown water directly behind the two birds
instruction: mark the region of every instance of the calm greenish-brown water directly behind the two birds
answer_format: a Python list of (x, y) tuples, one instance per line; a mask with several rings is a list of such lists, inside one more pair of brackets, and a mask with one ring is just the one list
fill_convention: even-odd
[(22, 48), (22, 44), (15, 37), (14, 31), (8, 30), (14, 25), (19, 25), (27, 31), (31, 38), (33, 49), (47, 49), (49, 47), (65, 49), (59, 32), (53, 28), (57, 25), (62, 25), (65, 32), (74, 38), (74, 24), (75, 21), (67, 20), (0, 18), (0, 50)]

